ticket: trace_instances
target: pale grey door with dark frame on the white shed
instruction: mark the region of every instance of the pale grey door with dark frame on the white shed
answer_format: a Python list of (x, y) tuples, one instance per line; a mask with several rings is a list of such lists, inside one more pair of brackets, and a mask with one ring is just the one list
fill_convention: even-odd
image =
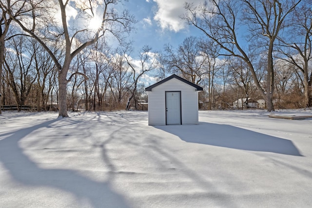
[(166, 92), (166, 125), (181, 124), (181, 92)]

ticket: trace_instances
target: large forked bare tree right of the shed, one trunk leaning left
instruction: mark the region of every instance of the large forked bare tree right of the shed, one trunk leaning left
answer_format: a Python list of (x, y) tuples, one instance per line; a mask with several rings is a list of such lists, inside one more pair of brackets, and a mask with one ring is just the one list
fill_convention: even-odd
[[(241, 58), (252, 73), (254, 83), (267, 103), (268, 111), (274, 111), (273, 47), (277, 35), (284, 26), (284, 20), (301, 0), (209, 0), (200, 7), (186, 3), (184, 19), (201, 30), (208, 38), (219, 44), (225, 56)], [(244, 12), (241, 13), (242, 8)], [(243, 15), (241, 15), (243, 14)], [(262, 46), (267, 55), (267, 85), (263, 89), (255, 72), (254, 63), (243, 47), (237, 34), (239, 21), (243, 19), (249, 28), (249, 41), (263, 39)]]

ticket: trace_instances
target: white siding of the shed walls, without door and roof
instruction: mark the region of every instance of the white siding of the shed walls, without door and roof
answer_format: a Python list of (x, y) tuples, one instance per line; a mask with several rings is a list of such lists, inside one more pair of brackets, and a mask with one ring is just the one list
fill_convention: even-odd
[(166, 125), (166, 91), (181, 91), (182, 125), (198, 124), (198, 93), (194, 87), (173, 78), (148, 92), (149, 125)]

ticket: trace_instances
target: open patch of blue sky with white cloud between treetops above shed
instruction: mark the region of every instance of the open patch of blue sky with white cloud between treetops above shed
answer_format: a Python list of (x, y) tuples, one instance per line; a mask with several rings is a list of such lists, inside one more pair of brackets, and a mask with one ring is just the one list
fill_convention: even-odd
[[(194, 3), (203, 0), (192, 0)], [(152, 47), (152, 51), (162, 51), (166, 43), (177, 47), (184, 38), (199, 36), (200, 32), (189, 27), (179, 18), (185, 12), (184, 0), (129, 0), (124, 2), (125, 8), (137, 19), (136, 32), (130, 36), (134, 41), (134, 52), (144, 45)]]

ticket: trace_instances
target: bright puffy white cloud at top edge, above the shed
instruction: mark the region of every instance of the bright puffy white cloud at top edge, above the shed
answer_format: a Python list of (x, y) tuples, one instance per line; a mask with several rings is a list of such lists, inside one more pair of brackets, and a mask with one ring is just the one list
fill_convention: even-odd
[[(154, 19), (160, 24), (161, 29), (169, 29), (178, 32), (186, 27), (184, 21), (180, 19), (185, 13), (184, 2), (181, 0), (154, 0), (157, 3), (158, 10)], [(189, 0), (189, 2), (198, 5), (203, 0)]]

